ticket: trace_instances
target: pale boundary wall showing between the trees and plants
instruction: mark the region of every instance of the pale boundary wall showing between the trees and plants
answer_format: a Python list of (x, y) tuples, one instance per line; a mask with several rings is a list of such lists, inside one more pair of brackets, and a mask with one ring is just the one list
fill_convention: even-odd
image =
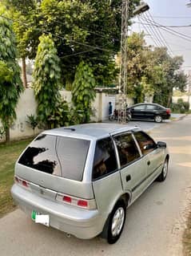
[[(60, 91), (62, 98), (66, 100), (70, 105), (72, 104), (72, 95), (70, 91)], [(98, 122), (108, 119), (109, 101), (113, 105), (113, 110), (117, 108), (118, 95), (109, 95), (105, 92), (97, 92), (94, 103), (92, 104), (94, 116), (91, 120)], [(133, 100), (127, 99), (128, 104), (133, 104)], [(32, 88), (26, 88), (18, 100), (18, 106), (16, 108), (17, 120), (10, 128), (10, 139), (19, 139), (25, 136), (33, 136), (33, 129), (26, 123), (27, 116), (36, 115), (37, 103), (34, 99), (34, 90)], [(1, 126), (1, 124), (0, 124)], [(38, 128), (35, 128), (35, 133), (40, 132)]]

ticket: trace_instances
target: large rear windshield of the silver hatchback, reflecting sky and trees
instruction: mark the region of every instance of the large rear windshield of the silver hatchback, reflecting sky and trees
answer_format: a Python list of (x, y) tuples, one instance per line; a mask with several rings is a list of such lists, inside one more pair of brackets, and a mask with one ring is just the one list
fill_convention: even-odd
[(90, 140), (42, 134), (18, 163), (44, 173), (82, 181)]

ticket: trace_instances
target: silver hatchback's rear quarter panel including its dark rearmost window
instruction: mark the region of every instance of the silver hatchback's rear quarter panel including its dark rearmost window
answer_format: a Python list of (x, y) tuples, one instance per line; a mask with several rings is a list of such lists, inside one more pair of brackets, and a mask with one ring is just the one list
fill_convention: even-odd
[(97, 209), (106, 218), (122, 191), (116, 152), (110, 136), (97, 140), (92, 181)]

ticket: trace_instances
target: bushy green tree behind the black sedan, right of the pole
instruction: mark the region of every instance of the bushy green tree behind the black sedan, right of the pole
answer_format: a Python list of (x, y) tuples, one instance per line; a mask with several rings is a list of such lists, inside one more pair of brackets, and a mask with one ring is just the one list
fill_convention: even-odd
[(173, 88), (184, 90), (186, 85), (186, 75), (179, 71), (182, 63), (181, 56), (172, 58), (165, 47), (147, 46), (143, 33), (133, 33), (128, 39), (127, 95), (135, 103), (153, 95), (155, 102), (169, 107)]

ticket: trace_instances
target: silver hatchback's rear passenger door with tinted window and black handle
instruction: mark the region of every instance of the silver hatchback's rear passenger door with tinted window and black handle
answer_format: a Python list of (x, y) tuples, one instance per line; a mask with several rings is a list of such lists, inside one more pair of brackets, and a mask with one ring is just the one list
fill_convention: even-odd
[(131, 132), (113, 136), (121, 165), (121, 182), (125, 192), (132, 193), (134, 201), (145, 189), (147, 164), (141, 158), (141, 152), (133, 139)]

